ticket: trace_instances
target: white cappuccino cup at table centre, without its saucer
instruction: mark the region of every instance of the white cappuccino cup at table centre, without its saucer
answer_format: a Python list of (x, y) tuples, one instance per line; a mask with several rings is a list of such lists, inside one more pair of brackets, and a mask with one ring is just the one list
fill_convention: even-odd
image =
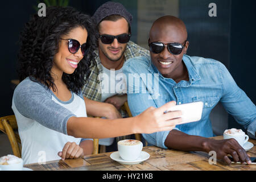
[(117, 143), (118, 153), (123, 160), (136, 160), (141, 155), (143, 144), (139, 140), (126, 139)]

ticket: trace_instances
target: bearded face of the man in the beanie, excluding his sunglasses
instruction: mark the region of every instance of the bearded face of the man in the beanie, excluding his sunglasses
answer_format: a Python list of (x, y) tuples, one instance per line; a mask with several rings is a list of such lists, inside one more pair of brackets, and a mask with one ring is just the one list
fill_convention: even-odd
[[(125, 18), (121, 18), (116, 21), (103, 20), (99, 24), (100, 35), (120, 35), (128, 34), (128, 32), (129, 25)], [(121, 44), (117, 41), (117, 39), (114, 39), (113, 43), (104, 44), (99, 39), (98, 46), (101, 61), (108, 64), (111, 61), (122, 61), (127, 43)]]

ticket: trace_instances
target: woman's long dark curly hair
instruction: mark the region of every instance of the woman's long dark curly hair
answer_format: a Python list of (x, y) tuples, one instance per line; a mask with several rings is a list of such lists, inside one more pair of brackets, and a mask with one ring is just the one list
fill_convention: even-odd
[[(89, 15), (76, 11), (73, 7), (48, 7), (46, 17), (32, 15), (20, 34), (18, 53), (18, 76), (22, 81), (26, 77), (35, 78), (48, 89), (55, 90), (56, 85), (51, 76), (53, 56), (59, 51), (60, 38), (73, 28), (83, 27), (88, 32), (88, 55), (80, 61), (71, 75), (63, 73), (62, 80), (72, 92), (79, 93), (88, 81), (90, 67), (95, 65), (96, 35), (95, 25)], [(33, 79), (31, 79), (33, 80)]]

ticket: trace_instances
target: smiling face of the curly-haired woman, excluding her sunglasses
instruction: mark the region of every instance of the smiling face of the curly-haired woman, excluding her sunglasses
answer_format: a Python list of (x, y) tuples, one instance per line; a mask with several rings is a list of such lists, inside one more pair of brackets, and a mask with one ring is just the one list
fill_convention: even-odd
[(51, 72), (61, 78), (63, 72), (72, 74), (77, 68), (77, 64), (83, 58), (81, 48), (76, 53), (71, 53), (68, 50), (68, 40), (75, 39), (79, 41), (80, 45), (86, 43), (87, 31), (85, 28), (77, 27), (68, 32), (67, 35), (61, 36), (59, 43), (59, 52), (53, 57), (53, 66)]

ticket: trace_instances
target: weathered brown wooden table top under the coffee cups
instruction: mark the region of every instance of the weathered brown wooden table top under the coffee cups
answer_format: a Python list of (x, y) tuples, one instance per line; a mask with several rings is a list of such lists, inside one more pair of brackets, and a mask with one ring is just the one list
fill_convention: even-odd
[[(222, 136), (213, 137), (223, 139)], [(256, 157), (256, 140), (249, 139), (254, 144), (247, 151), (251, 157)], [(184, 152), (163, 149), (156, 146), (143, 147), (150, 158), (139, 164), (126, 165), (115, 162), (110, 158), (113, 152), (87, 155), (80, 159), (54, 160), (46, 164), (27, 164), (24, 167), (35, 171), (256, 171), (256, 165), (231, 164), (226, 165), (221, 160), (217, 164), (209, 164), (209, 156), (205, 152)]]

